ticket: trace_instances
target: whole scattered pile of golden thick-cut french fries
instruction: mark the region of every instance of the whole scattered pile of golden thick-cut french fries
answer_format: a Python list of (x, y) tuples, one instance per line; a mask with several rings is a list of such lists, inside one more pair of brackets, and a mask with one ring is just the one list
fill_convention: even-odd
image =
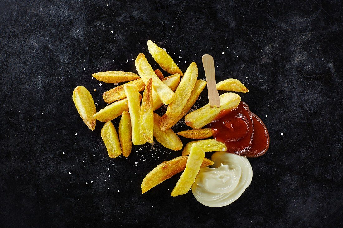
[[(111, 158), (121, 154), (128, 157), (132, 144), (153, 143), (153, 137), (168, 149), (177, 151), (183, 148), (182, 156), (158, 165), (143, 179), (141, 185), (142, 193), (145, 193), (183, 171), (171, 192), (172, 196), (182, 195), (190, 190), (200, 167), (213, 164), (213, 161), (205, 158), (205, 152), (227, 150), (224, 143), (208, 139), (213, 132), (202, 127), (211, 123), (221, 111), (235, 109), (241, 99), (238, 94), (227, 92), (220, 96), (220, 107), (206, 104), (186, 115), (206, 86), (206, 81), (197, 79), (197, 64), (192, 62), (184, 74), (164, 49), (150, 40), (147, 41), (147, 46), (154, 60), (170, 76), (165, 77), (159, 69), (154, 70), (145, 55), (139, 53), (135, 60), (138, 75), (122, 71), (98, 72), (92, 75), (105, 83), (126, 82), (104, 92), (103, 99), (109, 104), (104, 109), (96, 111), (91, 93), (83, 86), (74, 89), (73, 101), (82, 120), (91, 130), (95, 129), (97, 120), (106, 122), (101, 129), (101, 137)], [(248, 92), (237, 79), (221, 81), (217, 84), (217, 89)], [(142, 91), (143, 94), (140, 93)], [(167, 110), (163, 116), (159, 116), (154, 111), (163, 104), (168, 105)], [(117, 134), (111, 121), (119, 116), (121, 119)], [(171, 127), (184, 116), (186, 125), (193, 129), (175, 134)], [(183, 147), (178, 135), (202, 140), (189, 142)]]

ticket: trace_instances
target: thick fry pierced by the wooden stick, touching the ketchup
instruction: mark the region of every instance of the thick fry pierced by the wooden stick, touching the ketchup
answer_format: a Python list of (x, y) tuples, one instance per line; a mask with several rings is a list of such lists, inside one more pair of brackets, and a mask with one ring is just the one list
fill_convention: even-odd
[(240, 96), (236, 93), (223, 93), (219, 98), (220, 107), (211, 107), (210, 104), (206, 104), (200, 109), (188, 113), (185, 116), (186, 125), (193, 129), (202, 128), (211, 123), (221, 111), (235, 109), (240, 102)]

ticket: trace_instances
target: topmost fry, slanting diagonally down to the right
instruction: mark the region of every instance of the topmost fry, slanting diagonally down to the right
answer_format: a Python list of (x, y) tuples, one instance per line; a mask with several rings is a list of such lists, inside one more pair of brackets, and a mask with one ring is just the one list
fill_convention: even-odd
[(148, 49), (154, 60), (166, 72), (168, 72), (169, 74), (179, 74), (181, 76), (183, 75), (182, 71), (180, 71), (179, 67), (175, 64), (174, 60), (171, 59), (170, 55), (168, 55), (168, 53), (165, 50), (158, 47), (151, 40), (148, 40)]

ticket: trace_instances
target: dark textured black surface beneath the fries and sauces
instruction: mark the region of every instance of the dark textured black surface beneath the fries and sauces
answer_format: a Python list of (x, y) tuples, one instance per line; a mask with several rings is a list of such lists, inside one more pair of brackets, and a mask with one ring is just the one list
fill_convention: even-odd
[[(342, 1), (1, 1), (0, 227), (342, 226), (342, 15)], [(90, 131), (76, 112), (76, 86), (97, 110), (113, 88), (92, 73), (136, 72), (139, 52), (157, 67), (147, 39), (183, 71), (197, 62), (199, 78), (212, 54), (217, 80), (249, 88), (271, 145), (233, 204), (170, 197), (179, 175), (142, 195), (143, 177), (180, 152), (156, 143), (109, 159), (103, 123)]]

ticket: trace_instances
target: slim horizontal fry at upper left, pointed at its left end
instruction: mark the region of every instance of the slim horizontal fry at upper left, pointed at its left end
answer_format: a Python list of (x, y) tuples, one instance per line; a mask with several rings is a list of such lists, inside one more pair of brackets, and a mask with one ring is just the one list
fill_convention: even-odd
[(103, 71), (94, 73), (92, 76), (104, 83), (121, 83), (139, 78), (139, 75), (125, 71)]

